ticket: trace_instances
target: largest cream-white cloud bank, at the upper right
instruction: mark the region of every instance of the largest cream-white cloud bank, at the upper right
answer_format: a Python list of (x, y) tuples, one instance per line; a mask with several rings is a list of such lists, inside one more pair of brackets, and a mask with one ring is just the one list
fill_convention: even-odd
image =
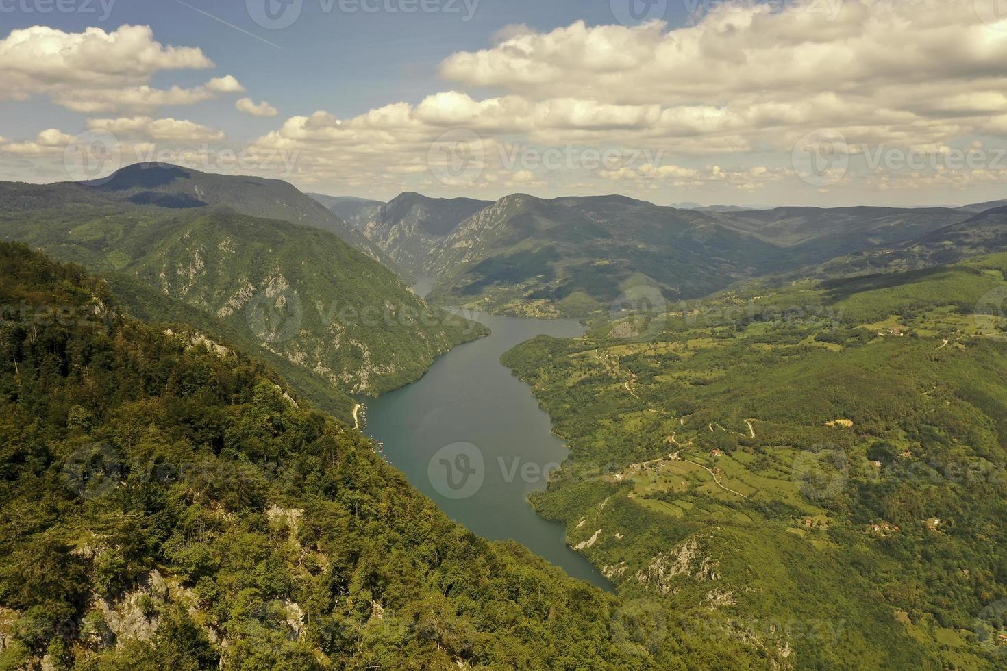
[(676, 29), (519, 26), (441, 71), (549, 101), (552, 126), (743, 134), (778, 148), (823, 127), (853, 141), (948, 141), (1007, 113), (1007, 31), (984, 23), (976, 1), (723, 3)]

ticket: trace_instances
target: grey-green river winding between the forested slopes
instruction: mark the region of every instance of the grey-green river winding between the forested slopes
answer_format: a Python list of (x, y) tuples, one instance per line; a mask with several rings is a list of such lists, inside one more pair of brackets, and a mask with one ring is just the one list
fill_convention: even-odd
[[(428, 284), (419, 282), (424, 295)], [(545, 489), (567, 449), (531, 388), (499, 362), (537, 335), (583, 333), (575, 320), (480, 314), (492, 335), (437, 359), (417, 382), (367, 401), (365, 432), (389, 462), (452, 519), (494, 540), (513, 538), (574, 577), (610, 590), (564, 542), (563, 524), (540, 517), (528, 495)]]

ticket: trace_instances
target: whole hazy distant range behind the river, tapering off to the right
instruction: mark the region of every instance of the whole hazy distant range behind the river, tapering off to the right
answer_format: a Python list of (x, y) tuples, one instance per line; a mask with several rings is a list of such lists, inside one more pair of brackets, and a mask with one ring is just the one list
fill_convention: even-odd
[(902, 248), (974, 216), (953, 208), (678, 209), (623, 196), (527, 194), (489, 203), (404, 193), (377, 211), (345, 206), (389, 257), (439, 281), (432, 301), (535, 316), (604, 313), (640, 292), (666, 302), (698, 298), (739, 280)]

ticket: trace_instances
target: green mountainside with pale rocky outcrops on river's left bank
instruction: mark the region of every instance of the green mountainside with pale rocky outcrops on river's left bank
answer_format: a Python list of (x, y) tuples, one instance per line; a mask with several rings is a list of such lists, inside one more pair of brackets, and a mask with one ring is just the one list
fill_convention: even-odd
[[(156, 180), (171, 171), (136, 174)], [(198, 321), (209, 335), (268, 351), (274, 363), (285, 360), (279, 366), (285, 374), (341, 396), (325, 404), (340, 414), (349, 410), (345, 393), (401, 386), (422, 375), (438, 354), (485, 332), (428, 308), (391, 271), (317, 227), (228, 207), (108, 202), (80, 185), (57, 191), (83, 189), (89, 200), (78, 202), (71, 194), (46, 207), (41, 196), (25, 200), (23, 194), (34, 190), (22, 186), (0, 185), (6, 194), (0, 236), (95, 271), (131, 276), (195, 308), (198, 320), (176, 314), (169, 304), (163, 314), (150, 310), (149, 295), (137, 301), (155, 321)], [(115, 180), (106, 186), (118, 188)]]

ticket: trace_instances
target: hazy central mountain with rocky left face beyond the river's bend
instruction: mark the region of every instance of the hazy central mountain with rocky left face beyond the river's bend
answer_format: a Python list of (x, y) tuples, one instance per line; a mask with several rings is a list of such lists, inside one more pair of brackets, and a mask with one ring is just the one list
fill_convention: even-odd
[(517, 314), (607, 311), (636, 286), (696, 298), (747, 277), (775, 247), (708, 214), (624, 196), (508, 196), (441, 241), (430, 299)]

